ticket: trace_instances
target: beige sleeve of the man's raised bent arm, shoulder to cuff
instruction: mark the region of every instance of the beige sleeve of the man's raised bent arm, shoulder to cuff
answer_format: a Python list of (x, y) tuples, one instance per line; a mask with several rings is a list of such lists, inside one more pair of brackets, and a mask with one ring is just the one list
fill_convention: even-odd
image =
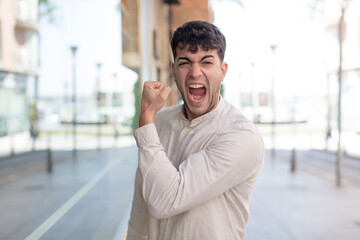
[(262, 138), (250, 129), (222, 132), (206, 149), (184, 159), (179, 170), (167, 158), (154, 124), (137, 129), (134, 136), (144, 177), (142, 194), (150, 215), (157, 219), (213, 199), (257, 176), (263, 164)]

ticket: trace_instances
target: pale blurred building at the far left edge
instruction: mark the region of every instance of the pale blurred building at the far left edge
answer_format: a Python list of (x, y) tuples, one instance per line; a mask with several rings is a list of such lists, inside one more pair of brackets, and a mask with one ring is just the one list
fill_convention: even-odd
[(38, 1), (0, 1), (0, 136), (30, 126), (38, 77)]

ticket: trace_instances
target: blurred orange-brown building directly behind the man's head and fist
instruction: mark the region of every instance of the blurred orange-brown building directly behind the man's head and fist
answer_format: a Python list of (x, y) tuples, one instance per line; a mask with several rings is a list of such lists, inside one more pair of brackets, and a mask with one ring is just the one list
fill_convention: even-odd
[(138, 95), (144, 81), (161, 81), (174, 89), (167, 105), (179, 103), (171, 73), (170, 39), (187, 21), (213, 21), (208, 0), (122, 0), (121, 12), (122, 63), (139, 74)]

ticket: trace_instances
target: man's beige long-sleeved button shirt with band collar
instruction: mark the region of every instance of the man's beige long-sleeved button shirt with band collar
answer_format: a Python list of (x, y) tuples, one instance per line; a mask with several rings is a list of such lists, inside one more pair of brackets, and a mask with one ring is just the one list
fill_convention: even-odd
[(193, 119), (164, 108), (134, 132), (138, 169), (128, 240), (243, 239), (264, 160), (255, 125), (224, 99)]

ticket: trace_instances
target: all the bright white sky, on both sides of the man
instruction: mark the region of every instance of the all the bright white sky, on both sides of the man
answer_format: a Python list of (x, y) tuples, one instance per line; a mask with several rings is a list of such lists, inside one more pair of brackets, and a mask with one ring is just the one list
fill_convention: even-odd
[[(209, 0), (227, 38), (225, 98), (235, 106), (240, 91), (270, 91), (273, 80), (279, 96), (326, 94), (323, 26), (311, 18), (309, 1), (242, 0), (242, 7), (236, 0)], [(71, 95), (72, 45), (78, 46), (79, 95), (95, 92), (99, 62), (101, 90), (132, 89), (136, 74), (121, 65), (119, 1), (54, 2), (55, 22), (40, 20), (40, 95)], [(277, 46), (275, 54), (270, 45)], [(121, 77), (114, 80), (114, 73)]]

